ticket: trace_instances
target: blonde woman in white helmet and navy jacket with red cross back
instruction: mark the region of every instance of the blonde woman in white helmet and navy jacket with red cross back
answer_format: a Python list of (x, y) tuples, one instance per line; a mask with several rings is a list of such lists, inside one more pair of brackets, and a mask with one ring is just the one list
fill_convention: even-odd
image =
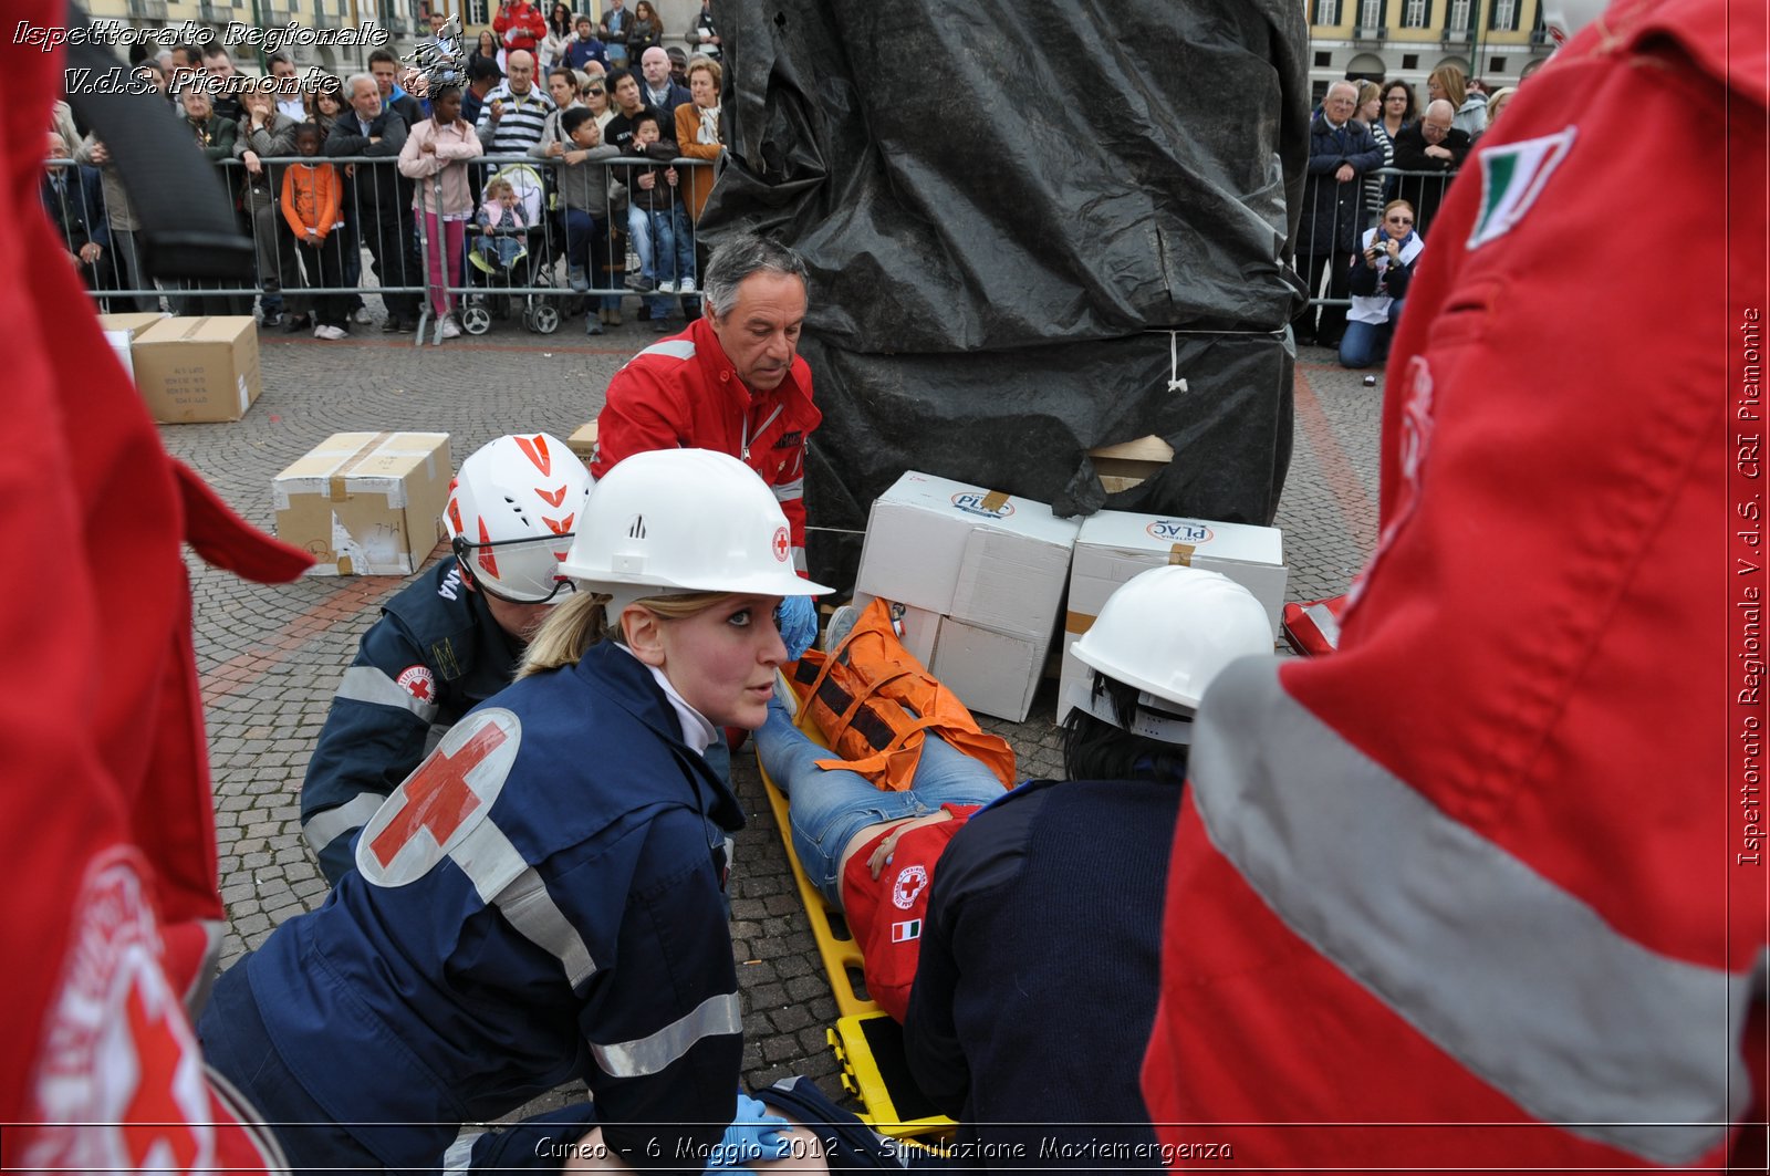
[(363, 827), (331, 901), (216, 985), (205, 1056), (297, 1169), (471, 1164), (464, 1123), (566, 1080), (595, 1114), (563, 1142), (600, 1125), (635, 1167), (706, 1155), (733, 1119), (722, 887), (743, 815), (701, 753), (761, 726), (775, 609), (825, 590), (761, 478), (704, 450), (611, 469), (561, 572), (575, 592), (515, 685)]

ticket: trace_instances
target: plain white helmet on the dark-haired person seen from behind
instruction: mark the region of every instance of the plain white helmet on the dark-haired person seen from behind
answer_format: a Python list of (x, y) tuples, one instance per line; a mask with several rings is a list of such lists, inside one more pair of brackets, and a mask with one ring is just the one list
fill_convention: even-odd
[[(1158, 567), (1120, 584), (1071, 650), (1085, 666), (1140, 691), (1129, 730), (1191, 742), (1191, 712), (1237, 657), (1273, 652), (1273, 625), (1253, 593), (1218, 572)], [(1090, 682), (1067, 701), (1122, 726)]]

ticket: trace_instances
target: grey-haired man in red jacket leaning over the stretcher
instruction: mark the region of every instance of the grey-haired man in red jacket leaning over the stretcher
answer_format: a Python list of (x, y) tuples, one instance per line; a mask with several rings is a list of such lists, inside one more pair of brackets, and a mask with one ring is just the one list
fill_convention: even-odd
[[(811, 367), (798, 356), (805, 262), (742, 234), (713, 250), (703, 276), (706, 317), (651, 344), (609, 381), (589, 471), (600, 478), (646, 450), (731, 453), (773, 487), (789, 554), (804, 572), (805, 441), (823, 420), (811, 402)], [(786, 622), (788, 654), (798, 657), (804, 645), (793, 648)], [(814, 620), (809, 629), (816, 634)]]

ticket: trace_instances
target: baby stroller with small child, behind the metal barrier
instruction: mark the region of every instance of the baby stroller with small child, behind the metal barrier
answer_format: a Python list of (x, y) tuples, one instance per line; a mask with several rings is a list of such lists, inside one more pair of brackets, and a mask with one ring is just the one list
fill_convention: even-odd
[(508, 163), (487, 177), (508, 181), (515, 191), (515, 228), (481, 227), (478, 220), (467, 225), (467, 278), (474, 287), (462, 301), (460, 326), (469, 335), (485, 335), (492, 328), (494, 312), (508, 319), (512, 308), (522, 306), (522, 326), (540, 335), (559, 329), (559, 294), (538, 294), (540, 287), (554, 285), (552, 266), (547, 264), (547, 182), (529, 163)]

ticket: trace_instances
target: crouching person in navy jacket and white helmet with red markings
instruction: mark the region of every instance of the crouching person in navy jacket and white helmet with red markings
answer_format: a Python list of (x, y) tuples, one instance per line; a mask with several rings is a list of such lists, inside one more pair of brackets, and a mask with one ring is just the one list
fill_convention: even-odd
[(345, 669), (301, 781), (301, 832), (326, 880), (356, 832), (464, 714), (510, 685), (529, 636), (572, 597), (559, 560), (589, 471), (545, 432), (460, 464), (442, 522), (455, 554), (388, 600)]

